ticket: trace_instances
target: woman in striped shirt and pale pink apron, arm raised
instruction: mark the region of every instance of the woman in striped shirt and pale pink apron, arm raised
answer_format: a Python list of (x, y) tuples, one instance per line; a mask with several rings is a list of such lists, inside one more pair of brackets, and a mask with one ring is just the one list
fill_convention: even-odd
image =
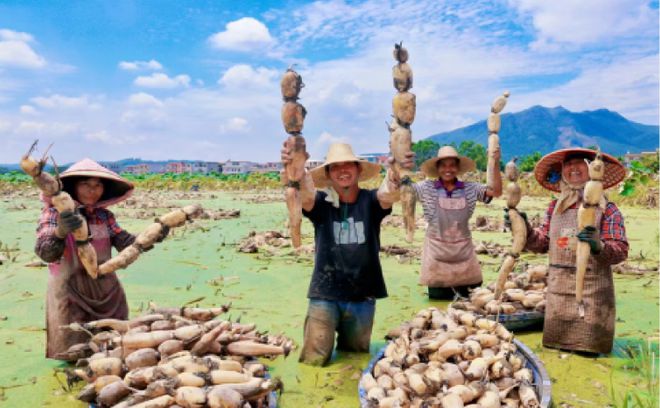
[[(499, 149), (495, 154), (499, 161)], [(459, 176), (476, 170), (474, 161), (452, 146), (443, 146), (437, 157), (422, 163), (421, 170), (427, 179), (413, 184), (428, 222), (420, 283), (428, 286), (431, 299), (466, 297), (483, 281), (469, 221), (477, 201), (489, 203), (502, 194), (499, 167), (494, 186), (461, 181)]]

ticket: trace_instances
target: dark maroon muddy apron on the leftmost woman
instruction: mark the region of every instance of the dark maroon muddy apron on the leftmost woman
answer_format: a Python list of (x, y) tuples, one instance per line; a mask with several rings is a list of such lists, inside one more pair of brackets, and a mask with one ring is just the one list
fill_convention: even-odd
[[(110, 259), (112, 254), (108, 226), (88, 225), (92, 245), (101, 264)], [(55, 358), (57, 353), (66, 351), (70, 346), (89, 340), (86, 333), (62, 330), (60, 326), (104, 318), (128, 318), (126, 295), (117, 275), (113, 272), (99, 275), (97, 279), (87, 275), (78, 258), (73, 235), (67, 235), (60, 261), (49, 264), (48, 268), (46, 357)]]

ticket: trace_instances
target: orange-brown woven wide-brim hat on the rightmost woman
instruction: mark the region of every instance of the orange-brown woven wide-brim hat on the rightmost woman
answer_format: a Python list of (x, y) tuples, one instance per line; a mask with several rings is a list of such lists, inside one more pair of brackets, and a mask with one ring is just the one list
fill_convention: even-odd
[[(602, 153), (603, 162), (605, 162), (605, 173), (603, 175), (603, 188), (607, 189), (619, 184), (626, 177), (626, 168), (614, 156)], [(596, 157), (596, 152), (591, 149), (573, 147), (561, 149), (548, 153), (536, 163), (534, 167), (534, 177), (544, 188), (550, 191), (561, 191), (561, 171), (562, 165), (567, 157), (578, 156), (588, 160)]]

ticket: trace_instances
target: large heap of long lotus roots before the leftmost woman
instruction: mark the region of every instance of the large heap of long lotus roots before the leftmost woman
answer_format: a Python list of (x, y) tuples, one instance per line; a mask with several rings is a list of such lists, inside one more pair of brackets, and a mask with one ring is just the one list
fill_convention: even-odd
[(63, 329), (85, 331), (58, 358), (77, 361), (69, 383), (88, 384), (78, 399), (99, 407), (268, 406), (278, 379), (255, 357), (288, 355), (284, 336), (257, 331), (254, 324), (218, 319), (217, 308), (158, 308), (131, 320), (102, 319)]

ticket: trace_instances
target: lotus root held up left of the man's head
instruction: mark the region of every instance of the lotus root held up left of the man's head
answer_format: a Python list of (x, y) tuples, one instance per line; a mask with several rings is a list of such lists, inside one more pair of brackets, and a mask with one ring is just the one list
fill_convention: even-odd
[(305, 174), (305, 162), (309, 158), (302, 128), (307, 111), (298, 100), (301, 88), (304, 86), (302, 77), (289, 68), (282, 77), (281, 91), (284, 105), (282, 106), (282, 124), (290, 135), (285, 148), (291, 154), (291, 162), (284, 167), (286, 175), (285, 199), (289, 210), (289, 230), (294, 248), (302, 245), (300, 227), (302, 225), (302, 201), (300, 196), (300, 181)]

